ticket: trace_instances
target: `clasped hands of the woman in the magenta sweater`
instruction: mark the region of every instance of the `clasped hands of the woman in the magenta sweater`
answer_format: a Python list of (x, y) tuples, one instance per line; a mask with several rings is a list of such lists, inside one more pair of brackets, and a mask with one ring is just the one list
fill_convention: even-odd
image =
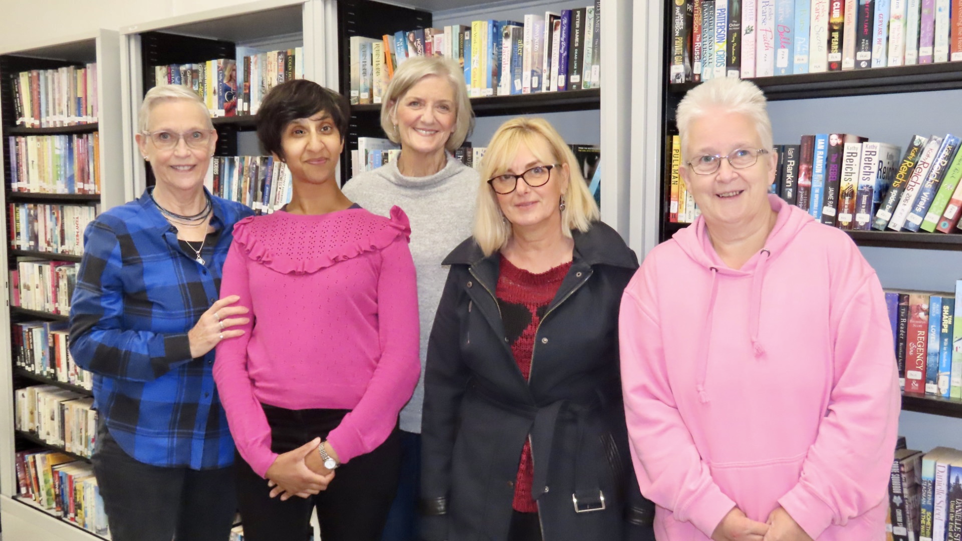
[(334, 478), (334, 471), (324, 467), (317, 446), (320, 438), (315, 438), (301, 447), (279, 454), (274, 463), (267, 468), (267, 486), (270, 497), (281, 497), (285, 502), (291, 496), (308, 498), (327, 489)]

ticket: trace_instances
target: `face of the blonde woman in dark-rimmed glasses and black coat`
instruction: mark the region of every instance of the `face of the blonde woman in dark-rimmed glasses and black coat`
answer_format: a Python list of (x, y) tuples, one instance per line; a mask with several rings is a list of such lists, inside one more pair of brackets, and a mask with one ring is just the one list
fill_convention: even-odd
[[(547, 142), (540, 136), (532, 139), (530, 147), (523, 142), (519, 145), (511, 167), (503, 172), (520, 174), (531, 167), (558, 163), (559, 160), (552, 155)], [(553, 223), (559, 230), (561, 229), (559, 203), (561, 196), (568, 191), (568, 165), (555, 166), (549, 174), (550, 178), (543, 186), (531, 188), (519, 178), (514, 192), (504, 195), (494, 194), (501, 213), (513, 227), (533, 227)]]

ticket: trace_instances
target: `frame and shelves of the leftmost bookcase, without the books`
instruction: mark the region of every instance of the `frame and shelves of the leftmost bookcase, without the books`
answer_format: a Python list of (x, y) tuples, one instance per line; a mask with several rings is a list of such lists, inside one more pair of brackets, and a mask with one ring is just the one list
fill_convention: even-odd
[[(13, 108), (13, 85), (11, 74), (28, 69), (48, 69), (65, 65), (97, 64), (96, 99), (99, 106), (99, 116), (96, 122), (63, 126), (63, 127), (22, 127), (15, 126), (16, 118)], [(4, 191), (2, 208), (4, 211), (3, 224), (0, 231), (4, 238), (0, 247), (0, 257), (8, 262), (8, 269), (15, 265), (20, 258), (38, 260), (60, 260), (79, 262), (80, 257), (57, 255), (50, 252), (35, 250), (13, 249), (8, 239), (8, 203), (38, 203), (60, 205), (96, 205), (103, 210), (124, 202), (123, 191), (123, 162), (121, 159), (122, 138), (120, 135), (121, 112), (119, 108), (119, 39), (118, 34), (110, 30), (99, 30), (88, 34), (61, 39), (56, 42), (41, 42), (17, 46), (8, 50), (0, 50), (0, 128), (3, 132), (3, 167), (0, 167), (0, 177), (3, 179)], [(11, 178), (11, 156), (8, 137), (11, 136), (50, 136), (92, 134), (96, 132), (99, 138), (100, 193), (24, 193), (11, 192), (8, 186)], [(5, 270), (6, 272), (6, 270)], [(4, 283), (8, 279), (5, 274)], [(93, 533), (67, 523), (49, 512), (41, 509), (33, 502), (15, 499), (16, 476), (14, 473), (14, 452), (19, 449), (43, 447), (55, 449), (54, 446), (43, 443), (29, 432), (15, 431), (13, 428), (13, 390), (29, 385), (50, 383), (63, 389), (69, 389), (89, 396), (90, 392), (73, 385), (50, 381), (38, 374), (29, 373), (23, 369), (13, 367), (13, 344), (11, 341), (11, 325), (22, 321), (65, 322), (67, 317), (59, 314), (48, 314), (34, 310), (27, 310), (11, 306), (10, 289), (5, 286), (3, 291), (4, 306), (9, 308), (0, 311), (0, 350), (5, 351), (3, 362), (0, 362), (0, 400), (10, 404), (2, 408), (0, 413), (0, 516), (4, 525), (4, 533), (9, 539), (53, 539), (53, 540), (94, 540), (100, 537)], [(79, 455), (78, 459), (88, 460)]]

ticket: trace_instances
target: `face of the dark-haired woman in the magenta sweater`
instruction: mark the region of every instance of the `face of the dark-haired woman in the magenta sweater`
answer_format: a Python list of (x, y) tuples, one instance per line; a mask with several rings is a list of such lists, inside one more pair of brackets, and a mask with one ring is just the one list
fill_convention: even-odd
[(281, 134), (281, 147), (295, 182), (334, 182), (343, 141), (334, 119), (326, 111), (291, 120)]

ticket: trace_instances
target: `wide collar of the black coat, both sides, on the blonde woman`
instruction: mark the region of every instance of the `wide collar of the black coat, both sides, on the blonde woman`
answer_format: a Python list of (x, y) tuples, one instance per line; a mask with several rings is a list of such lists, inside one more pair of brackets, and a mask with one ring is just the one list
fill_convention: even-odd
[[(618, 232), (602, 221), (595, 221), (591, 229), (585, 233), (572, 231), (571, 237), (574, 239), (575, 262), (592, 267), (609, 265), (629, 270), (638, 269), (638, 258), (635, 257), (635, 252), (624, 244)], [(497, 252), (485, 257), (481, 247), (474, 242), (474, 238), (469, 237), (447, 254), (442, 265), (468, 265), (477, 268), (484, 267), (480, 265), (483, 260), (490, 260), (494, 263), (494, 269), (497, 269), (500, 257), (500, 253)]]

